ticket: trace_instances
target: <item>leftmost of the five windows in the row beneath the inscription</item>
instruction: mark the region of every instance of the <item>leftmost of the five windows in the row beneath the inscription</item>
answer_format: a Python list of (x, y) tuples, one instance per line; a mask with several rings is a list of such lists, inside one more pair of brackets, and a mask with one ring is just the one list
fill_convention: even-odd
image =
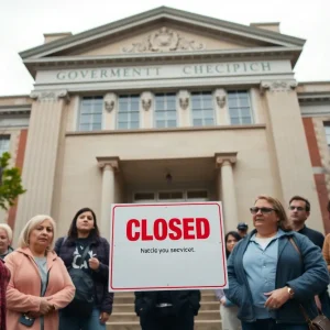
[(79, 131), (99, 131), (102, 129), (102, 97), (84, 97), (80, 103)]

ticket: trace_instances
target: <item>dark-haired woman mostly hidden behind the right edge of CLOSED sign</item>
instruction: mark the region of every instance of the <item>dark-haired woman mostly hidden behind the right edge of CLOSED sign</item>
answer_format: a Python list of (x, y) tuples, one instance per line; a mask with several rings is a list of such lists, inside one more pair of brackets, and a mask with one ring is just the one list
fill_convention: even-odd
[[(241, 240), (241, 235), (237, 231), (230, 231), (224, 237), (226, 256), (229, 258), (235, 244)], [(238, 306), (232, 304), (224, 295), (223, 289), (216, 290), (217, 298), (220, 300), (220, 316), (222, 328), (226, 330), (239, 330), (241, 321), (238, 319)]]

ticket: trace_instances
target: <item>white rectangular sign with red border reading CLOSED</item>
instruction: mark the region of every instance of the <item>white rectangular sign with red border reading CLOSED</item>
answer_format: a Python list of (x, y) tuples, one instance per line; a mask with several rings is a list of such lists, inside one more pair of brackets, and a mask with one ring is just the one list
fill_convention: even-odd
[(220, 202), (112, 205), (109, 290), (228, 287)]

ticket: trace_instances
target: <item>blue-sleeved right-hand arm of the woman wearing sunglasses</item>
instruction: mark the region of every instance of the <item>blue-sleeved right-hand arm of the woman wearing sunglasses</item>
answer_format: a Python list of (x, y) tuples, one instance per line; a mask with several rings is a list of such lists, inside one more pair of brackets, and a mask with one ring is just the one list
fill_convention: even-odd
[(295, 237), (300, 250), (304, 273), (301, 276), (287, 282), (287, 285), (294, 289), (295, 299), (304, 301), (314, 299), (315, 295), (320, 294), (329, 284), (329, 273), (320, 249), (316, 246), (306, 237)]

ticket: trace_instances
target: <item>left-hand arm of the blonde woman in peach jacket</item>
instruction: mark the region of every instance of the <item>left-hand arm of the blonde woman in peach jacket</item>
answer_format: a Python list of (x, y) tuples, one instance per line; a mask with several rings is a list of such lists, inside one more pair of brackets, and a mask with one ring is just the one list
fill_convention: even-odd
[[(40, 311), (42, 298), (38, 296), (25, 295), (19, 292), (14, 285), (15, 270), (20, 265), (16, 265), (15, 257), (16, 252), (8, 254), (4, 258), (6, 266), (11, 273), (10, 282), (7, 287), (7, 308), (14, 311), (28, 312)], [(33, 278), (31, 279), (33, 280)], [(36, 280), (40, 280), (38, 278)]]

